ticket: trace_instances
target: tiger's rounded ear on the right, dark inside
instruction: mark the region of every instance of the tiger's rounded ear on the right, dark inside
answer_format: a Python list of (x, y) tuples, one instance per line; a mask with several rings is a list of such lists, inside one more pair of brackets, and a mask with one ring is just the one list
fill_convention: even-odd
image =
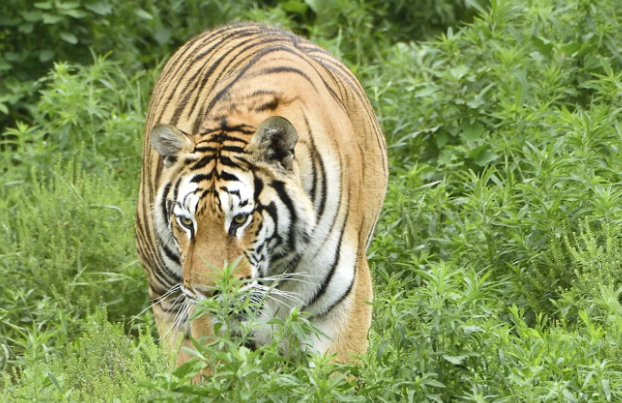
[(264, 162), (278, 164), (291, 171), (298, 132), (289, 120), (272, 116), (259, 125), (251, 140), (255, 155)]

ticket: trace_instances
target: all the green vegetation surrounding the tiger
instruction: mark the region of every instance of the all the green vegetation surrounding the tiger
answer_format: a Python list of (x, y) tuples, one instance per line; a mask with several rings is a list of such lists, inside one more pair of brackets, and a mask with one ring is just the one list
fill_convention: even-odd
[[(151, 86), (245, 20), (342, 59), (384, 129), (361, 365), (225, 334), (173, 370), (140, 313)], [(621, 28), (617, 0), (3, 0), (0, 398), (622, 401)]]

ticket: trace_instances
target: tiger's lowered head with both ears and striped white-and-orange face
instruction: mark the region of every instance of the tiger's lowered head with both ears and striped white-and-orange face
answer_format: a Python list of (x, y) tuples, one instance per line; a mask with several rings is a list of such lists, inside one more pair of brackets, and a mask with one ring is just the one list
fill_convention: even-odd
[(217, 270), (240, 256), (234, 275), (250, 286), (282, 274), (315, 227), (294, 159), (294, 126), (273, 116), (256, 130), (225, 129), (191, 136), (158, 124), (151, 131), (166, 171), (155, 199), (156, 230), (190, 299), (209, 297)]

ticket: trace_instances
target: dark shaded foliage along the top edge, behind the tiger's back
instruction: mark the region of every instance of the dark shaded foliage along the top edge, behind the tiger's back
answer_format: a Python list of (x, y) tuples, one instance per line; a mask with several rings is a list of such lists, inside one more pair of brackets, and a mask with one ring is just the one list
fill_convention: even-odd
[[(302, 32), (314, 23), (332, 37), (350, 26), (346, 41), (362, 53), (365, 38), (426, 37), (472, 15), (465, 0), (5, 0), (0, 4), (0, 132), (30, 121), (38, 81), (53, 62), (89, 64), (89, 49), (114, 52), (126, 72), (153, 68), (189, 38), (224, 22), (257, 19)], [(338, 17), (335, 17), (335, 12)], [(297, 23), (294, 23), (296, 20)], [(383, 25), (390, 35), (369, 35)], [(361, 36), (361, 35), (364, 36)], [(326, 35), (325, 35), (326, 36)], [(348, 48), (351, 45), (346, 45)]]

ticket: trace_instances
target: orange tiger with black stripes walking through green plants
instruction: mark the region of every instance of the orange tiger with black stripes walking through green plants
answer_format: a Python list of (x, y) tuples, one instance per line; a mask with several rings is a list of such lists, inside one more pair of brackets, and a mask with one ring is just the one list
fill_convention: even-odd
[[(359, 81), (328, 51), (259, 23), (191, 39), (152, 90), (140, 175), (137, 251), (171, 353), (214, 334), (183, 307), (213, 297), (216, 269), (240, 257), (232, 276), (281, 291), (260, 320), (299, 309), (324, 335), (310, 351), (348, 362), (367, 350), (387, 149)], [(189, 359), (177, 351), (178, 365)]]

